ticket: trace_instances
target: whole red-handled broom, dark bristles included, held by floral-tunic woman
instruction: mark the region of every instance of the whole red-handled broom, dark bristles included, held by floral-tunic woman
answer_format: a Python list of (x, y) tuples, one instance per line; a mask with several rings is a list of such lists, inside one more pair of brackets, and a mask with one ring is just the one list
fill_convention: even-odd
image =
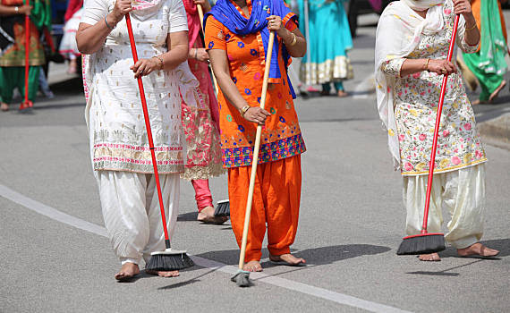
[[(454, 54), (455, 37), (457, 35), (457, 26), (459, 25), (459, 14), (455, 15), (454, 31), (450, 39), (450, 47), (448, 49), (448, 62), (452, 61)], [(427, 233), (427, 222), (429, 221), (429, 204), (430, 204), (430, 191), (432, 190), (432, 178), (434, 176), (434, 166), (436, 165), (436, 148), (438, 147), (438, 133), (439, 124), (441, 123), (441, 111), (443, 110), (443, 102), (445, 101), (446, 82), (448, 81), (448, 74), (443, 77), (443, 85), (441, 86), (441, 93), (439, 95), (438, 114), (436, 117), (436, 127), (434, 129), (434, 139), (432, 140), (432, 153), (430, 154), (429, 163), (429, 182), (427, 182), (427, 195), (425, 199), (425, 210), (423, 213), (423, 225), (421, 226), (421, 233), (417, 235), (404, 237), (404, 240), (398, 247), (396, 254), (401, 255), (416, 255), (416, 254), (429, 254), (445, 250), (445, 236), (443, 233)]]

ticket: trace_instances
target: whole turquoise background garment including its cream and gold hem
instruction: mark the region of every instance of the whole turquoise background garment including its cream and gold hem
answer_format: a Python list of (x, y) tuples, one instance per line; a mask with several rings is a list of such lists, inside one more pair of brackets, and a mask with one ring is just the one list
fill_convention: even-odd
[[(298, 0), (298, 5), (300, 30), (306, 34), (304, 1)], [(347, 51), (353, 48), (353, 38), (344, 10), (344, 1), (310, 0), (308, 5), (309, 51), (302, 58), (301, 80), (312, 85), (352, 79), (353, 68)]]

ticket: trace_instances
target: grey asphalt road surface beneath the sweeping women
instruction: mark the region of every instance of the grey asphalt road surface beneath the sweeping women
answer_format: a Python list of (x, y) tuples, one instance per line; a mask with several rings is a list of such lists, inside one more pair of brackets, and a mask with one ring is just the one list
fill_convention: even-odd
[[(360, 30), (352, 58), (353, 90), (372, 70), (373, 28)], [(0, 114), (0, 311), (3, 312), (504, 312), (510, 271), (510, 153), (487, 146), (483, 240), (499, 258), (438, 263), (397, 257), (404, 234), (401, 178), (372, 95), (300, 99), (308, 152), (302, 156), (300, 229), (293, 245), (309, 266), (271, 266), (240, 289), (229, 280), (238, 250), (230, 224), (195, 222), (189, 182), (182, 183), (174, 247), (201, 266), (178, 278), (141, 275), (115, 283), (117, 261), (104, 237), (89, 162), (79, 80), (53, 86), (55, 100), (34, 114)], [(506, 91), (507, 92), (507, 91)], [(505, 97), (504, 97), (505, 99)], [(477, 118), (507, 107), (477, 108)], [(483, 111), (483, 112), (482, 112)], [(225, 176), (212, 181), (226, 196)], [(45, 214), (45, 215), (43, 215)], [(447, 214), (445, 213), (445, 216)]]

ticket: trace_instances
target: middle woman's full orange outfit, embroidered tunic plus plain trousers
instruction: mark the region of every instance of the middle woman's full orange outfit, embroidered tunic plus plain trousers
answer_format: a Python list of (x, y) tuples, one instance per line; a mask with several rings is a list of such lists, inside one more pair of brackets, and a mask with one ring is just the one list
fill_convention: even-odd
[[(231, 4), (235, 5), (233, 2)], [(247, 4), (251, 11), (251, 0), (247, 0)], [(242, 13), (241, 8), (235, 6)], [(293, 13), (282, 17), (288, 30), (297, 27), (292, 17)], [(283, 47), (282, 39), (276, 39), (280, 47)], [(241, 37), (209, 16), (205, 42), (208, 49), (225, 50), (230, 76), (237, 89), (250, 106), (259, 106), (265, 66), (265, 51), (260, 33)], [(245, 262), (260, 259), (266, 224), (268, 250), (273, 255), (290, 253), (290, 245), (298, 226), (301, 154), (306, 148), (286, 79), (281, 48), (277, 56), (282, 79), (269, 80), (265, 108), (271, 115), (262, 129)], [(218, 102), (223, 162), (228, 168), (230, 217), (236, 240), (241, 246), (251, 175), (251, 166), (248, 165), (251, 165), (253, 159), (257, 125), (242, 118), (221, 90)]]

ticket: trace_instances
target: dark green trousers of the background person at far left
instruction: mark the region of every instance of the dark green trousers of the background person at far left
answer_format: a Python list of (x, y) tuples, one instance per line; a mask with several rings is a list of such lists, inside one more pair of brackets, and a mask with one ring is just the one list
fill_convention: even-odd
[[(34, 101), (38, 94), (40, 66), (29, 67), (29, 100)], [(13, 102), (13, 91), (18, 89), (25, 97), (25, 68), (21, 66), (0, 67), (0, 101)]]

